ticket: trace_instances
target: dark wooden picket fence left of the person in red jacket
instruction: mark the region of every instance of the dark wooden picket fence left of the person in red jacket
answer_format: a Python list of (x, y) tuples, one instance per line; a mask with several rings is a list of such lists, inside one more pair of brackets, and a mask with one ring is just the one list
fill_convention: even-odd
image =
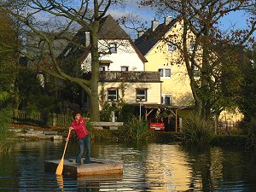
[(71, 114), (61, 113), (26, 113), (25, 111), (15, 111), (14, 123), (48, 125), (48, 126), (69, 126), (73, 121)]

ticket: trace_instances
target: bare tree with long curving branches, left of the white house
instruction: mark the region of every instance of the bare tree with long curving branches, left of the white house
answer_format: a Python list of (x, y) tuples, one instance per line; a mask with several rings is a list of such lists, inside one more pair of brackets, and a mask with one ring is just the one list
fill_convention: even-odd
[[(118, 3), (118, 1), (21, 0), (0, 3), (1, 11), (15, 17), (16, 20), (23, 23), (26, 30), (39, 37), (37, 51), (28, 52), (26, 49), (19, 49), (20, 53), (36, 64), (39, 70), (43, 70), (55, 78), (79, 84), (90, 96), (91, 117), (94, 120), (100, 119), (98, 105), (99, 23), (112, 3)], [(78, 26), (82, 27), (84, 31), (90, 32), (90, 45), (79, 44), (73, 40), (72, 35), (67, 35), (67, 32), (77, 29)], [(90, 80), (74, 77), (62, 70), (61, 62), (58, 61), (58, 55), (55, 53), (55, 42), (60, 39), (65, 39), (79, 49), (90, 51)]]

